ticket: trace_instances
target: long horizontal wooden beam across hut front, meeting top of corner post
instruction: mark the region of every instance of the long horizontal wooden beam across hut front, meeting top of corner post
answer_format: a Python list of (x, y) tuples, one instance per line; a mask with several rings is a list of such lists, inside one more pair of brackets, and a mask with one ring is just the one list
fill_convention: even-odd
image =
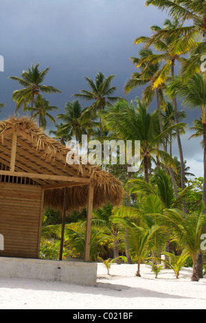
[(67, 176), (58, 176), (58, 175), (47, 175), (47, 174), (36, 174), (30, 172), (11, 172), (8, 170), (0, 170), (0, 175), (5, 176), (16, 176), (16, 177), (27, 177), (31, 179), (45, 179), (52, 181), (71, 181), (71, 182), (80, 182), (88, 184), (90, 183), (90, 179), (81, 178), (81, 177), (67, 177)]

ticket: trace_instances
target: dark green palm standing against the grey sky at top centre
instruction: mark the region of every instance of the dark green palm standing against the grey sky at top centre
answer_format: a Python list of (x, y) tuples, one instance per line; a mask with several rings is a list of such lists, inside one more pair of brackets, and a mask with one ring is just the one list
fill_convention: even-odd
[[(107, 78), (104, 77), (104, 74), (100, 71), (95, 76), (95, 81), (91, 80), (87, 76), (84, 76), (87, 80), (87, 83), (91, 91), (80, 90), (81, 93), (73, 94), (77, 98), (87, 101), (93, 101), (90, 107), (85, 109), (84, 114), (88, 115), (91, 120), (96, 117), (97, 111), (102, 111), (106, 106), (110, 106), (111, 103), (117, 100), (117, 97), (113, 96), (113, 93), (116, 91), (116, 87), (111, 87), (111, 82), (115, 75), (110, 75)], [(100, 118), (100, 137), (102, 138), (102, 120)]]

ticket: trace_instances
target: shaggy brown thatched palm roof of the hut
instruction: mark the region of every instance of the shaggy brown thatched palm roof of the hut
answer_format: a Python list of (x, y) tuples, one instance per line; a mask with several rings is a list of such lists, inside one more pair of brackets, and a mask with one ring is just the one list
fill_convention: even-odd
[[(66, 156), (68, 149), (43, 133), (36, 122), (30, 118), (14, 118), (0, 122), (0, 170), (10, 170), (12, 150), (12, 135), (17, 134), (15, 172), (25, 172), (24, 181), (36, 186), (47, 187), (58, 183), (54, 178), (27, 179), (27, 173), (78, 177), (91, 179), (94, 184), (93, 208), (99, 208), (110, 202), (113, 205), (122, 203), (124, 190), (122, 183), (98, 166), (68, 165)], [(0, 181), (5, 177), (0, 177)], [(11, 178), (7, 179), (11, 181)], [(15, 183), (15, 179), (12, 179)], [(19, 179), (16, 179), (19, 183)], [(67, 210), (80, 210), (87, 205), (89, 185), (68, 188)], [(45, 206), (62, 208), (64, 189), (56, 188), (45, 190)]]

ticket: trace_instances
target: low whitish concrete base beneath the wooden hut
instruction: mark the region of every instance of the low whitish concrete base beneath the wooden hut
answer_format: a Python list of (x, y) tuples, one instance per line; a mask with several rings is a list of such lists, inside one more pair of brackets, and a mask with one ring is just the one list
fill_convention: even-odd
[(52, 280), (94, 286), (97, 271), (97, 263), (0, 257), (0, 279)]

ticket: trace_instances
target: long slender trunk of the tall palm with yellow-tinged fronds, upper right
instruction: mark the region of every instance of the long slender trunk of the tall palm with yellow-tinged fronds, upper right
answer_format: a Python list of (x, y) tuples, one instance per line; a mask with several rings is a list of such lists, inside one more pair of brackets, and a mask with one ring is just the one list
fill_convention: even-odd
[[(174, 60), (172, 60), (171, 69), (172, 69), (172, 78), (174, 78)], [(174, 120), (175, 120), (175, 123), (178, 124), (179, 121), (178, 121), (178, 117), (177, 117), (176, 97), (173, 98), (172, 102), (174, 105)], [(182, 144), (181, 144), (181, 138), (179, 135), (179, 131), (176, 131), (176, 138), (177, 138), (177, 144), (178, 144), (178, 148), (179, 148), (179, 159), (181, 162), (181, 190), (183, 191), (185, 189), (185, 165), (184, 165), (183, 148), (182, 148)], [(185, 213), (187, 212), (185, 201), (183, 202), (183, 212), (185, 212)]]

